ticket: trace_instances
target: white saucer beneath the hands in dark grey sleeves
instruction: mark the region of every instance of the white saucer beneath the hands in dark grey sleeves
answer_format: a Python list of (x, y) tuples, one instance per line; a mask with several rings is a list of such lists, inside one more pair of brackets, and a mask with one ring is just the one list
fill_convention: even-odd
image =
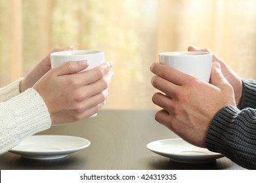
[(181, 163), (208, 163), (223, 157), (222, 154), (193, 146), (182, 139), (165, 139), (150, 142), (147, 148), (156, 154)]

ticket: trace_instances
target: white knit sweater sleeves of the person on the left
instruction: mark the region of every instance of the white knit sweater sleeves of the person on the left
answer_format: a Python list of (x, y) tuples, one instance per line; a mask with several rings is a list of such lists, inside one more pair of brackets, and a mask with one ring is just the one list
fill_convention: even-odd
[[(18, 85), (13, 83), (2, 90), (10, 93), (2, 96), (3, 102), (0, 103), (0, 154), (19, 144), (25, 137), (51, 127), (50, 114), (39, 93), (30, 88), (18, 94)], [(11, 96), (14, 97), (8, 99)]]

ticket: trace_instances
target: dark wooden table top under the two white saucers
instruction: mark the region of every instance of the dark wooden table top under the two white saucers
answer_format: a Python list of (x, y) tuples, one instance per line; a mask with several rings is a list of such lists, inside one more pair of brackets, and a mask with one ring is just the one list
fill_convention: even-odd
[(7, 152), (0, 156), (0, 169), (59, 170), (166, 170), (243, 169), (228, 158), (211, 163), (177, 163), (154, 154), (146, 144), (177, 138), (154, 120), (154, 110), (102, 110), (98, 116), (68, 125), (51, 127), (41, 135), (71, 135), (91, 141), (84, 150), (55, 160), (33, 160)]

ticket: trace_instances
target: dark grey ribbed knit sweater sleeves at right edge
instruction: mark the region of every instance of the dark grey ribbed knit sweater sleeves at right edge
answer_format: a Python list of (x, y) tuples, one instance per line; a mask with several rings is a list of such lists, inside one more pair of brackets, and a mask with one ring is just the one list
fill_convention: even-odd
[(206, 137), (206, 146), (238, 165), (256, 169), (256, 81), (243, 80), (242, 103), (219, 110)]

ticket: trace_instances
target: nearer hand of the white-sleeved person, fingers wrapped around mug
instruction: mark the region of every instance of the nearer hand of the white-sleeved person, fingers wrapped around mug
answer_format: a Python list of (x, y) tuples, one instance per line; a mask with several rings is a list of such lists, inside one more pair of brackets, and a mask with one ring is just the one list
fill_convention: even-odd
[(87, 118), (103, 107), (112, 80), (112, 62), (78, 73), (86, 67), (87, 61), (64, 63), (33, 86), (45, 101), (53, 125)]

